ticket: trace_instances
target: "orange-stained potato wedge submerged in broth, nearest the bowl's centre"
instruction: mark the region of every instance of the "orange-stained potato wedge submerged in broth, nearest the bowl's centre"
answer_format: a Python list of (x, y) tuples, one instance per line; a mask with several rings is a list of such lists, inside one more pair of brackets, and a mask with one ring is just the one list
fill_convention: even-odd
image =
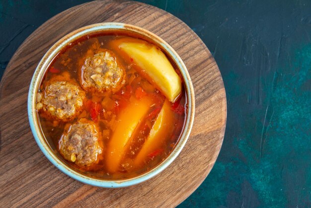
[(152, 101), (148, 96), (140, 100), (134, 99), (118, 115), (115, 131), (107, 145), (106, 167), (110, 173), (118, 170), (128, 149), (127, 144), (130, 143), (133, 132), (147, 114), (151, 104)]

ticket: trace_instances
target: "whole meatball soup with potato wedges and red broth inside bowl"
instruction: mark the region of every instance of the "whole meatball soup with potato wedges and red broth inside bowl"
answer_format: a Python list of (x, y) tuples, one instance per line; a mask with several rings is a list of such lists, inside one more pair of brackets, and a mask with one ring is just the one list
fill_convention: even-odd
[(155, 168), (183, 131), (183, 80), (156, 45), (132, 34), (101, 33), (69, 44), (37, 94), (45, 138), (76, 171), (105, 180)]

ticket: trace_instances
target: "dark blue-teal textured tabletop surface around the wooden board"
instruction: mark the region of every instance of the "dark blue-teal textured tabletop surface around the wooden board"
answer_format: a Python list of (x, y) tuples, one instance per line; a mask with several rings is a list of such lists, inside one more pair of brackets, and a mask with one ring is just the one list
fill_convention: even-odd
[[(311, 207), (311, 1), (141, 0), (205, 42), (228, 102), (225, 139), (180, 207)], [(0, 74), (43, 22), (84, 0), (0, 2)]]

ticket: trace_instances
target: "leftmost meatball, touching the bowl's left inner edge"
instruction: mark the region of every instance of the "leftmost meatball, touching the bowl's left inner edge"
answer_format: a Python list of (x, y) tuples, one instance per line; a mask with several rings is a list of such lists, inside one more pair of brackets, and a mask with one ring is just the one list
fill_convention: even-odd
[(55, 81), (45, 87), (43, 94), (37, 95), (37, 109), (52, 117), (68, 121), (81, 110), (85, 93), (78, 85), (67, 81)]

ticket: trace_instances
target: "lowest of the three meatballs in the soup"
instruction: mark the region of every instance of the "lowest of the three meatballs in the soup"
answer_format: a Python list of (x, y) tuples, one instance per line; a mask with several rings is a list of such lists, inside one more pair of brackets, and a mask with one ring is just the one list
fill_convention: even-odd
[(81, 118), (65, 130), (59, 142), (60, 153), (80, 167), (91, 165), (102, 152), (98, 132), (98, 127), (92, 121)]

